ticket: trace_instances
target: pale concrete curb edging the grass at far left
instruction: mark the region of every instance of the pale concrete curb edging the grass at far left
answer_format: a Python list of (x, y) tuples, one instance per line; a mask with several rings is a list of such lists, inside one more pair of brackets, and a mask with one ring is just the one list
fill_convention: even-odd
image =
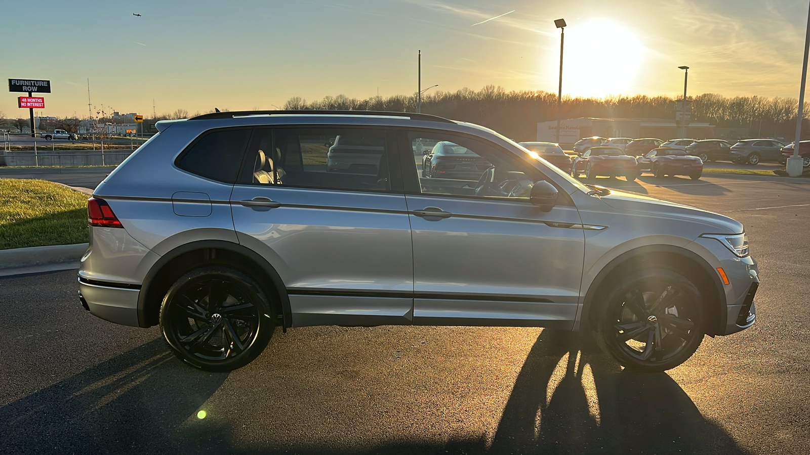
[(0, 276), (79, 268), (87, 244), (0, 249)]

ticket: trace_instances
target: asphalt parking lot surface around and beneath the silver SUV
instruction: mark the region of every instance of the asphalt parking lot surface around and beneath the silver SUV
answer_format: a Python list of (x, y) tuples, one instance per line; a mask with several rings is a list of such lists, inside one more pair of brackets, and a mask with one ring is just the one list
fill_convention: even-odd
[(403, 326), (278, 330), (214, 374), (85, 313), (75, 270), (3, 278), (0, 452), (807, 453), (810, 181), (595, 183), (744, 223), (757, 324), (656, 374), (552, 330)]

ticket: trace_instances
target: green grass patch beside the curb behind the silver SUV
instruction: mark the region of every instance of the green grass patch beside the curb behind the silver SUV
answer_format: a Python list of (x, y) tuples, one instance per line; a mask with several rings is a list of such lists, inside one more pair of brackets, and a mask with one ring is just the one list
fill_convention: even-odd
[(0, 249), (87, 242), (87, 198), (50, 181), (0, 178)]

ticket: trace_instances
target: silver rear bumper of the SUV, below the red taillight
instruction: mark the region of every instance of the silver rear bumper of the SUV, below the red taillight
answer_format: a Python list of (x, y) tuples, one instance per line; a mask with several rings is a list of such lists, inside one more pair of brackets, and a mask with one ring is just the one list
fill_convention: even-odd
[(116, 283), (88, 283), (79, 278), (79, 300), (93, 316), (116, 324), (139, 327), (140, 287), (117, 287)]

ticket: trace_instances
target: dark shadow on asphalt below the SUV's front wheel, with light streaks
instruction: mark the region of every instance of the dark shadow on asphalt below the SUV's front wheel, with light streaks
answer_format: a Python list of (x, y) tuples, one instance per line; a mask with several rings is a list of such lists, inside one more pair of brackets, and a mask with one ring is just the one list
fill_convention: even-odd
[(488, 453), (746, 453), (667, 373), (622, 370), (583, 344), (541, 332)]

